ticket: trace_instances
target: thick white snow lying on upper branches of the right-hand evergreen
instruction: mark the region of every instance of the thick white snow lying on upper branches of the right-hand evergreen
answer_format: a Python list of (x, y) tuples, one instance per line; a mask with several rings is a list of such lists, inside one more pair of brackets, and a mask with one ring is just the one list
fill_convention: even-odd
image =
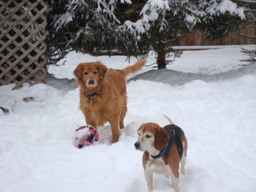
[[(184, 7), (185, 9), (183, 9)], [(147, 0), (140, 12), (141, 18), (135, 23), (130, 22), (130, 27), (134, 27), (139, 33), (144, 33), (150, 27), (156, 27), (152, 23), (158, 20), (156, 23), (160, 22), (158, 25), (160, 25), (159, 30), (161, 31), (163, 26), (168, 23), (165, 15), (170, 10), (173, 15), (185, 14), (184, 20), (188, 28), (190, 28), (191, 24), (194, 25), (200, 21), (201, 17), (210, 19), (213, 15), (218, 16), (224, 13), (237, 15), (241, 20), (245, 20), (244, 9), (242, 7), (238, 8), (237, 4), (231, 0), (198, 0), (196, 3), (188, 0)], [(127, 27), (127, 24), (123, 26), (129, 29), (130, 27)]]

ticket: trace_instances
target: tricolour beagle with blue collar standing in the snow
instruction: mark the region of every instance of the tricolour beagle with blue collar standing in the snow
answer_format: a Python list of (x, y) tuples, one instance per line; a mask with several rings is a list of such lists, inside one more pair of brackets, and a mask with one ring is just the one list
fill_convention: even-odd
[(187, 139), (183, 130), (164, 115), (169, 125), (160, 127), (156, 123), (143, 123), (138, 129), (139, 138), (135, 149), (144, 151), (142, 163), (148, 192), (153, 190), (153, 173), (171, 175), (172, 187), (178, 192), (179, 166), (185, 174)]

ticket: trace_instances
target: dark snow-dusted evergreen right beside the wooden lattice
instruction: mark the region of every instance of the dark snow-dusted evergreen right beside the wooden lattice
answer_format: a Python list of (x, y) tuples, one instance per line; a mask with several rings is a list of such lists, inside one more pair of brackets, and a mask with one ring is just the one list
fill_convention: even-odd
[[(114, 0), (46, 0), (49, 58), (69, 50), (97, 54), (114, 48), (139, 54), (134, 31), (124, 31), (115, 16)], [(125, 44), (125, 46), (120, 46)], [(131, 50), (132, 49), (132, 50)]]

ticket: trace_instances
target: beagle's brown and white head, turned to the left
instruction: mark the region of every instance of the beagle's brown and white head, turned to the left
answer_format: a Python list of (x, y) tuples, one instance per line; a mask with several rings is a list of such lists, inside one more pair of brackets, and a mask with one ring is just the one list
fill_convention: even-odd
[(158, 155), (169, 141), (169, 135), (165, 129), (156, 123), (143, 123), (138, 129), (139, 138), (134, 144), (140, 151), (148, 151), (149, 154)]

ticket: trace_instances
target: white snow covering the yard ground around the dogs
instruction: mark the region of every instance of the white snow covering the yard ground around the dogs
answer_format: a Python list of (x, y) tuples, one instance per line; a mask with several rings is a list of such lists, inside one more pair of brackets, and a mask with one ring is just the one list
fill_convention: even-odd
[[(146, 192), (136, 131), (144, 122), (168, 124), (161, 114), (188, 139), (181, 192), (255, 192), (256, 63), (243, 66), (239, 47), (184, 51), (166, 70), (144, 67), (130, 75), (137, 80), (127, 83), (126, 127), (116, 144), (110, 144), (106, 124), (98, 144), (73, 146), (74, 131), (85, 120), (72, 72), (79, 62), (100, 60), (122, 69), (136, 59), (71, 52), (65, 65), (49, 68), (67, 79), (48, 77), (47, 84), (14, 91), (13, 84), (0, 86), (0, 107), (10, 109), (0, 110), (0, 192)], [(149, 55), (146, 64), (154, 62)], [(31, 96), (34, 101), (23, 101)], [(155, 175), (154, 192), (174, 191)]]

